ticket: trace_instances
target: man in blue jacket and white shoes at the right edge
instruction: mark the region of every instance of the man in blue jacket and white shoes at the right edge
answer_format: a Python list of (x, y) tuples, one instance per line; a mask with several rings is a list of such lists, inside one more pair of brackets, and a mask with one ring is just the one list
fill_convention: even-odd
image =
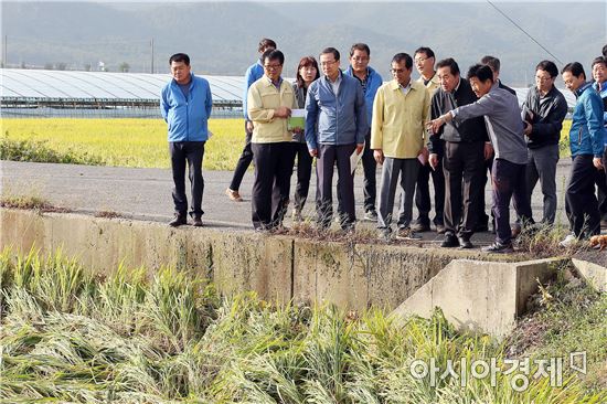
[(569, 130), (573, 163), (565, 194), (572, 234), (561, 242), (563, 247), (568, 247), (579, 238), (600, 233), (594, 180), (596, 170), (603, 170), (605, 128), (603, 102), (592, 83), (586, 82), (582, 64), (568, 63), (561, 75), (565, 86), (577, 97)]

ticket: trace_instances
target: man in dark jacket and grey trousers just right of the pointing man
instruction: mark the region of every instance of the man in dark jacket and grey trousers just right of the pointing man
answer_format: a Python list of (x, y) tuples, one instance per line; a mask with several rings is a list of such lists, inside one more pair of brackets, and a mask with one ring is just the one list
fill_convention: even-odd
[[(542, 61), (535, 67), (535, 86), (529, 89), (523, 104), (524, 135), (529, 148), (525, 169), (528, 201), (540, 180), (544, 195), (542, 223), (554, 224), (556, 214), (556, 163), (563, 119), (567, 102), (554, 86), (556, 65)], [(520, 227), (515, 227), (519, 230)]]

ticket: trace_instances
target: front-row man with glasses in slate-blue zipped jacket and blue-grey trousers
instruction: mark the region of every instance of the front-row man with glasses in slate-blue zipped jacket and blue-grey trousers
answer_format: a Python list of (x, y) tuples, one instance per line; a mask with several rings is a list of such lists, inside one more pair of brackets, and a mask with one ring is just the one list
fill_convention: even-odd
[(313, 82), (306, 96), (306, 142), (317, 158), (317, 213), (322, 228), (331, 225), (333, 215), (332, 181), (337, 161), (343, 216), (341, 227), (353, 230), (354, 177), (350, 157), (360, 155), (369, 131), (362, 87), (339, 68), (339, 51), (327, 47), (320, 54), (323, 75)]

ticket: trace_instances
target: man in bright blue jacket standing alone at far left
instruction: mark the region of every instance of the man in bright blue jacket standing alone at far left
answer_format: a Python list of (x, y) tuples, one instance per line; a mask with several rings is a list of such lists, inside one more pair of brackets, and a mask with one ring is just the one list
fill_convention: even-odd
[(175, 215), (169, 223), (188, 223), (185, 196), (185, 163), (190, 176), (192, 200), (190, 215), (194, 226), (202, 226), (202, 158), (209, 139), (207, 121), (213, 107), (209, 82), (191, 73), (190, 57), (175, 53), (169, 59), (173, 78), (162, 88), (160, 113), (169, 125), (169, 151), (173, 171), (173, 202)]

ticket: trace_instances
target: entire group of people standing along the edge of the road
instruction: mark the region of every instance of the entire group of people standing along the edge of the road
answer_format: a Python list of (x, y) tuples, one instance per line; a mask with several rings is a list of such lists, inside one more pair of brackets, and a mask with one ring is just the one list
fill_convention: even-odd
[[(392, 79), (384, 83), (369, 65), (369, 46), (356, 43), (350, 49), (345, 70), (341, 68), (340, 52), (327, 47), (318, 61), (302, 57), (296, 82), (288, 83), (281, 74), (285, 56), (276, 43), (263, 39), (258, 52), (259, 60), (246, 71), (245, 147), (226, 190), (232, 201), (243, 201), (238, 190), (254, 161), (255, 230), (281, 226), (289, 204), (292, 220), (302, 219), (316, 158), (317, 223), (328, 228), (336, 216), (344, 231), (352, 231), (356, 221), (354, 169), (362, 160), (363, 219), (376, 222), (381, 237), (392, 237), (398, 184), (395, 236), (416, 240), (419, 232), (430, 231), (432, 178), (432, 222), (436, 232), (444, 234), (443, 247), (471, 248), (472, 234), (488, 231), (491, 223), (496, 241), (483, 249), (512, 252), (512, 240), (523, 228), (537, 226), (531, 211), (537, 181), (543, 194), (539, 223), (554, 224), (558, 142), (567, 115), (565, 98), (554, 85), (558, 74), (577, 98), (565, 194), (571, 234), (561, 244), (568, 246), (599, 234), (601, 224), (607, 225), (607, 45), (590, 65), (592, 77), (577, 62), (561, 71), (552, 61), (539, 62), (535, 86), (522, 107), (515, 92), (500, 81), (500, 61), (493, 56), (482, 57), (462, 73), (454, 59), (437, 61), (432, 49), (419, 47), (413, 56), (394, 55)], [(190, 214), (193, 225), (200, 226), (211, 89), (206, 79), (191, 73), (187, 54), (174, 54), (169, 63), (173, 79), (162, 89), (161, 111), (169, 128), (174, 180), (175, 217), (170, 224), (187, 223), (188, 164)], [(419, 73), (415, 81), (414, 65)], [(291, 201), (296, 158), (297, 185)], [(333, 215), (336, 170), (338, 204)], [(484, 211), (488, 178), (492, 189), (490, 215)], [(511, 200), (517, 212), (512, 220)]]

